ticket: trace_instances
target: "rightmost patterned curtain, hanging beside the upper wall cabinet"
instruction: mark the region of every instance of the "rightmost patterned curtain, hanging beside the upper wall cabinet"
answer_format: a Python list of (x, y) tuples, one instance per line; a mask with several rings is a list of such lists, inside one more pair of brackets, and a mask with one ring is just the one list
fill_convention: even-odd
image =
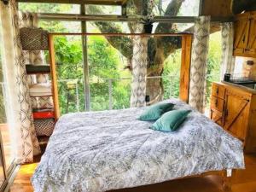
[(221, 26), (222, 38), (222, 62), (220, 79), (224, 79), (224, 73), (234, 73), (235, 57), (233, 56), (234, 25), (223, 23)]

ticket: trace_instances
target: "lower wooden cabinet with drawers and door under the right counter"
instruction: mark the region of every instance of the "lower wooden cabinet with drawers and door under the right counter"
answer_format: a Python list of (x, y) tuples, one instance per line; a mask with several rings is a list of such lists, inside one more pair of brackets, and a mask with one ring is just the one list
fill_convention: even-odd
[[(216, 96), (217, 89), (222, 91), (221, 95)], [(256, 90), (213, 83), (210, 118), (240, 139), (245, 152), (256, 152)]]

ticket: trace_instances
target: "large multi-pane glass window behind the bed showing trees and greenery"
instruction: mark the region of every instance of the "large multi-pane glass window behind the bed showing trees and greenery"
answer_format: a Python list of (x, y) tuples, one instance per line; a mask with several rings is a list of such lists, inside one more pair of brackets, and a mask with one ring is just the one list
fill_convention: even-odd
[[(175, 0), (172, 0), (175, 1)], [(158, 8), (154, 8), (154, 15), (164, 15), (172, 1), (155, 1)], [(132, 1), (130, 1), (132, 2)], [(135, 2), (135, 1), (134, 1)], [(183, 7), (189, 6), (189, 11)], [(199, 1), (185, 0), (178, 11), (178, 15), (197, 15), (196, 7)], [(19, 4), (22, 11), (35, 11), (41, 13), (71, 13), (78, 14), (79, 9), (73, 5), (51, 4), (53, 10), (49, 11), (49, 5), (38, 3)], [(22, 6), (21, 6), (22, 5)], [(129, 5), (128, 5), (129, 6)], [(195, 8), (195, 9), (192, 9)], [(85, 5), (87, 15), (121, 15), (120, 6)], [(128, 9), (129, 13), (129, 9)], [(49, 32), (81, 32), (81, 21), (39, 20), (39, 26)], [(173, 32), (183, 32), (193, 24), (174, 23)], [(87, 32), (130, 33), (131, 25), (128, 22), (113, 21), (86, 21)], [(170, 23), (154, 23), (153, 32), (169, 32)], [(90, 109), (105, 110), (117, 108), (129, 108), (131, 96), (131, 58), (132, 38), (89, 36), (87, 39), (87, 62), (89, 66)], [(155, 73), (155, 77), (148, 79), (148, 84), (157, 90), (164, 90), (160, 98), (177, 97), (179, 95), (179, 73), (181, 66), (181, 50), (178, 41), (172, 38), (163, 38), (157, 42), (157, 38), (148, 40), (148, 61), (154, 64), (157, 54), (160, 59), (162, 71)], [(177, 49), (170, 49), (171, 45)], [(158, 47), (157, 47), (158, 46)], [(161, 50), (163, 52), (161, 53)], [(81, 36), (55, 37), (55, 54), (58, 75), (59, 101), (61, 113), (84, 111), (85, 84), (84, 84), (84, 55)], [(45, 53), (48, 61), (48, 53)], [(126, 67), (126, 69), (125, 69)], [(130, 68), (131, 69), (131, 68)], [(152, 75), (150, 75), (152, 76)], [(149, 86), (151, 86), (149, 85)], [(154, 87), (150, 87), (150, 89)], [(154, 90), (154, 89), (153, 89)], [(87, 95), (86, 95), (87, 96)]]

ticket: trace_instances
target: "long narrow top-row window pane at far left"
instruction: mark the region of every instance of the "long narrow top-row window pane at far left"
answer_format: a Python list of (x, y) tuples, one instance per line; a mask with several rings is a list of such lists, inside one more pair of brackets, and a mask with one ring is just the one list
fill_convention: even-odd
[(60, 3), (19, 3), (19, 10), (32, 13), (79, 14), (80, 5)]

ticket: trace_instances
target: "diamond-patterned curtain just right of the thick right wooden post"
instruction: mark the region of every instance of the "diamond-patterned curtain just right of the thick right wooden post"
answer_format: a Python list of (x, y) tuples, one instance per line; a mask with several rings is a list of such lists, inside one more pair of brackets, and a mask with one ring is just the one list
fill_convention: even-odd
[(201, 16), (195, 19), (189, 104), (201, 113), (204, 111), (210, 25), (211, 18), (209, 16)]

